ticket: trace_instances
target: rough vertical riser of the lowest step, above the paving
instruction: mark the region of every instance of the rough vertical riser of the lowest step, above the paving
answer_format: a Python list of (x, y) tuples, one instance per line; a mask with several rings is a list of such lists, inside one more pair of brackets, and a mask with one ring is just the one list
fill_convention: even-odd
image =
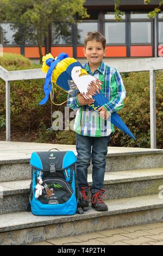
[[(162, 208), (103, 216), (78, 222), (65, 222), (47, 226), (7, 231), (0, 234), (1, 245), (27, 245), (65, 236), (75, 236), (113, 228), (162, 222)], [(64, 233), (65, 231), (65, 233)]]

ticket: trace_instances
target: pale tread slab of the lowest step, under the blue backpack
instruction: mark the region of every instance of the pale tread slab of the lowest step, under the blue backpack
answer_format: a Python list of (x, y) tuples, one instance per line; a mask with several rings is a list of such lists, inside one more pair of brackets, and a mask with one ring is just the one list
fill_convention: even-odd
[(126, 212), (163, 208), (163, 199), (160, 199), (158, 194), (154, 194), (150, 197), (142, 196), (109, 200), (105, 203), (108, 205), (108, 211), (97, 212), (94, 209), (91, 209), (82, 215), (75, 214), (73, 216), (34, 216), (31, 212), (15, 212), (12, 214), (4, 214), (1, 215), (0, 233), (16, 229), (39, 227), (40, 225), (50, 225), (54, 223), (63, 223), (69, 221), (84, 220), (88, 218), (123, 214)]

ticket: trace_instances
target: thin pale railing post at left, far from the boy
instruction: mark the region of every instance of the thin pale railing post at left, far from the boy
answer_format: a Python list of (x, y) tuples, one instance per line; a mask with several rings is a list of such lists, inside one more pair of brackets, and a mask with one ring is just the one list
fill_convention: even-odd
[(6, 141), (10, 141), (10, 82), (5, 82), (5, 127)]

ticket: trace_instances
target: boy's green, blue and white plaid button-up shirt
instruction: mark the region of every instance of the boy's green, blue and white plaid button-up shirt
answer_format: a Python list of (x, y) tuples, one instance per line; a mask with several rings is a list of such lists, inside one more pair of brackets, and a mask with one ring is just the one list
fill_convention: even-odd
[(89, 63), (87, 62), (84, 69), (92, 76), (95, 76), (103, 82), (102, 92), (108, 103), (103, 107), (110, 112), (109, 117), (104, 120), (99, 117), (99, 113), (91, 110), (87, 105), (80, 105), (77, 98), (77, 91), (74, 95), (68, 95), (67, 107), (76, 111), (74, 121), (74, 131), (80, 135), (103, 137), (109, 136), (114, 132), (114, 126), (111, 124), (111, 113), (116, 112), (123, 107), (123, 100), (126, 97), (126, 90), (122, 81), (120, 72), (116, 69), (105, 65), (104, 62), (98, 66), (95, 72), (91, 72)]

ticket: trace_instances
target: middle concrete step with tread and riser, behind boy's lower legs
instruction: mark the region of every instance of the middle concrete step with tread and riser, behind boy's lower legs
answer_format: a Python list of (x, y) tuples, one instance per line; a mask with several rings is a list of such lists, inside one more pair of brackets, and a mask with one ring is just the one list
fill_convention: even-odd
[[(91, 174), (88, 174), (88, 181), (91, 187)], [(25, 211), (29, 198), (29, 185), (30, 180), (0, 182), (0, 191), (3, 191), (3, 199), (0, 199), (0, 214)], [(163, 185), (163, 167), (106, 172), (104, 200), (159, 194), (161, 185)]]

